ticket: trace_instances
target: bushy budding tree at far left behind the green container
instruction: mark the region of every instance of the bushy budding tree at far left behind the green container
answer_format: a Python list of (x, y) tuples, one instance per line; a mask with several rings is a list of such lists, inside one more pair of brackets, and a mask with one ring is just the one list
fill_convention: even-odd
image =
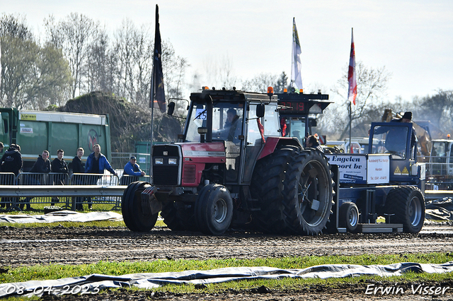
[(25, 25), (25, 18), (0, 19), (1, 105), (42, 109), (61, 104), (70, 73), (62, 52), (52, 45), (40, 45)]

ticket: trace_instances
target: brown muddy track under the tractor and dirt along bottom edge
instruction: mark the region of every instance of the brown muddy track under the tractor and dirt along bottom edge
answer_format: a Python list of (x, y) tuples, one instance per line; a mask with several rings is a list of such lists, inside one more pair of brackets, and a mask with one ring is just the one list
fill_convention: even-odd
[[(253, 259), (308, 255), (406, 254), (453, 252), (453, 225), (425, 225), (419, 234), (340, 234), (304, 236), (262, 235), (229, 231), (213, 237), (200, 232), (154, 228), (148, 233), (127, 228), (0, 228), (0, 266), (35, 264), (91, 264), (98, 261), (151, 261), (158, 259)], [(401, 256), (401, 261), (404, 257)], [(394, 285), (392, 283), (372, 283)], [(98, 295), (46, 296), (44, 300), (453, 300), (453, 279), (425, 283), (449, 287), (445, 295), (413, 295), (411, 284), (401, 295), (367, 295), (369, 283), (328, 287), (316, 285), (301, 291), (251, 288), (222, 294), (155, 293), (151, 290), (101, 291)], [(415, 285), (415, 283), (414, 283)]]

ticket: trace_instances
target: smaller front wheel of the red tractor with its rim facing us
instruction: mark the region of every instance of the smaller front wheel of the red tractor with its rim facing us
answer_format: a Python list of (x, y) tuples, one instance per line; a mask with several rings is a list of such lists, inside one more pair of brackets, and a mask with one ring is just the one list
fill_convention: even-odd
[(209, 184), (202, 188), (195, 204), (198, 229), (205, 234), (222, 235), (233, 219), (233, 200), (226, 187)]

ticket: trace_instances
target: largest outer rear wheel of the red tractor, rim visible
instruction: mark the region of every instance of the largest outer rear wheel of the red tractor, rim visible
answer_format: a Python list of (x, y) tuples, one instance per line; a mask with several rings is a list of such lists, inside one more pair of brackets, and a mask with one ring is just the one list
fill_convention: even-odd
[(321, 233), (333, 204), (332, 174), (324, 154), (314, 149), (295, 153), (289, 161), (282, 194), (289, 232)]

